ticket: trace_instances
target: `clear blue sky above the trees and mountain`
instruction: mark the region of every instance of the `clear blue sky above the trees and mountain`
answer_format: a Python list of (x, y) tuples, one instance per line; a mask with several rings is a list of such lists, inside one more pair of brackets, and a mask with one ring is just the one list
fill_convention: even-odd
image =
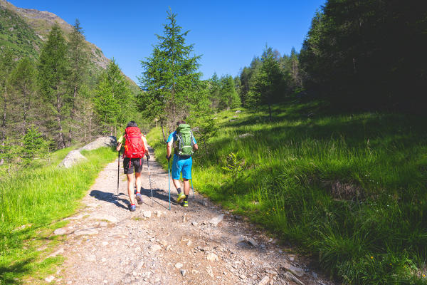
[(207, 79), (238, 75), (260, 56), (267, 43), (281, 54), (300, 50), (312, 16), (324, 0), (304, 1), (110, 1), (10, 0), (20, 8), (50, 11), (73, 24), (80, 20), (86, 39), (115, 58), (137, 82), (140, 60), (150, 56), (170, 6), (177, 23), (190, 30), (186, 43), (202, 55), (200, 71)]

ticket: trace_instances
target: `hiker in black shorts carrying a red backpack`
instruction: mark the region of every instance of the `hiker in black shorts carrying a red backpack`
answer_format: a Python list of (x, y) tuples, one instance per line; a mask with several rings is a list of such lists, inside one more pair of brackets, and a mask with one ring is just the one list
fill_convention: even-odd
[[(116, 150), (120, 152), (120, 149), (123, 145), (123, 140), (125, 140), (125, 152), (123, 152), (123, 169), (125, 170), (125, 175), (127, 176), (127, 194), (130, 199), (130, 211), (134, 212), (136, 209), (135, 197), (138, 204), (142, 204), (142, 195), (141, 191), (141, 172), (142, 172), (142, 157), (147, 156), (149, 159), (147, 140), (145, 136), (139, 130), (137, 123), (131, 120), (127, 123), (125, 133), (117, 140)], [(134, 197), (134, 180), (133, 172), (135, 170), (135, 180), (137, 185), (137, 195)]]

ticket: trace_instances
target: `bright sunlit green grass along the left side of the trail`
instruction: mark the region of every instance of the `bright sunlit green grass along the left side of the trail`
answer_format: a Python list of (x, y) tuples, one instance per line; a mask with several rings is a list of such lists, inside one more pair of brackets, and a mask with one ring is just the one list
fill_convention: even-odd
[[(1, 180), (0, 284), (21, 284), (29, 277), (35, 282), (56, 271), (53, 265), (61, 257), (46, 256), (63, 237), (51, 233), (65, 225), (60, 219), (75, 212), (100, 170), (117, 154), (102, 147), (83, 152), (87, 162), (59, 169), (56, 165), (68, 151), (56, 152), (51, 166), (22, 170)], [(43, 245), (47, 249), (38, 251)]]

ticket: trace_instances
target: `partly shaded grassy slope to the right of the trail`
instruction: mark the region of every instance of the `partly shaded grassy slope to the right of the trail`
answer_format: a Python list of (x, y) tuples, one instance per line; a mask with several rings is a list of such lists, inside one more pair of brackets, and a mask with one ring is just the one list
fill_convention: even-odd
[[(318, 102), (276, 106), (273, 122), (240, 110), (236, 122), (216, 114), (216, 137), (195, 155), (199, 192), (345, 284), (427, 284), (427, 117), (331, 115)], [(147, 138), (167, 165), (160, 130)]]

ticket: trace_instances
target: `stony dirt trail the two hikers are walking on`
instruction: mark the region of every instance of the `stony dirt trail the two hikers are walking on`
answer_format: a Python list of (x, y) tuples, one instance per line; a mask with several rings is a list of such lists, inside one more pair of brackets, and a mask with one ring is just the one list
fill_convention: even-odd
[[(152, 150), (151, 150), (152, 152)], [(154, 156), (152, 154), (152, 156)], [(67, 234), (54, 255), (65, 257), (48, 281), (56, 284), (332, 284), (309, 261), (291, 254), (241, 217), (196, 193), (189, 207), (172, 202), (168, 175), (150, 160), (142, 172), (144, 204), (127, 209), (125, 175), (117, 160), (100, 172), (83, 199), (85, 207), (56, 234)], [(171, 183), (172, 200), (176, 190)], [(223, 217), (222, 221), (215, 222)], [(217, 221), (212, 220), (217, 218)], [(293, 272), (293, 274), (291, 274)], [(299, 275), (300, 276), (299, 276)], [(295, 278), (295, 279), (294, 279)], [(292, 281), (293, 279), (293, 281)]]

